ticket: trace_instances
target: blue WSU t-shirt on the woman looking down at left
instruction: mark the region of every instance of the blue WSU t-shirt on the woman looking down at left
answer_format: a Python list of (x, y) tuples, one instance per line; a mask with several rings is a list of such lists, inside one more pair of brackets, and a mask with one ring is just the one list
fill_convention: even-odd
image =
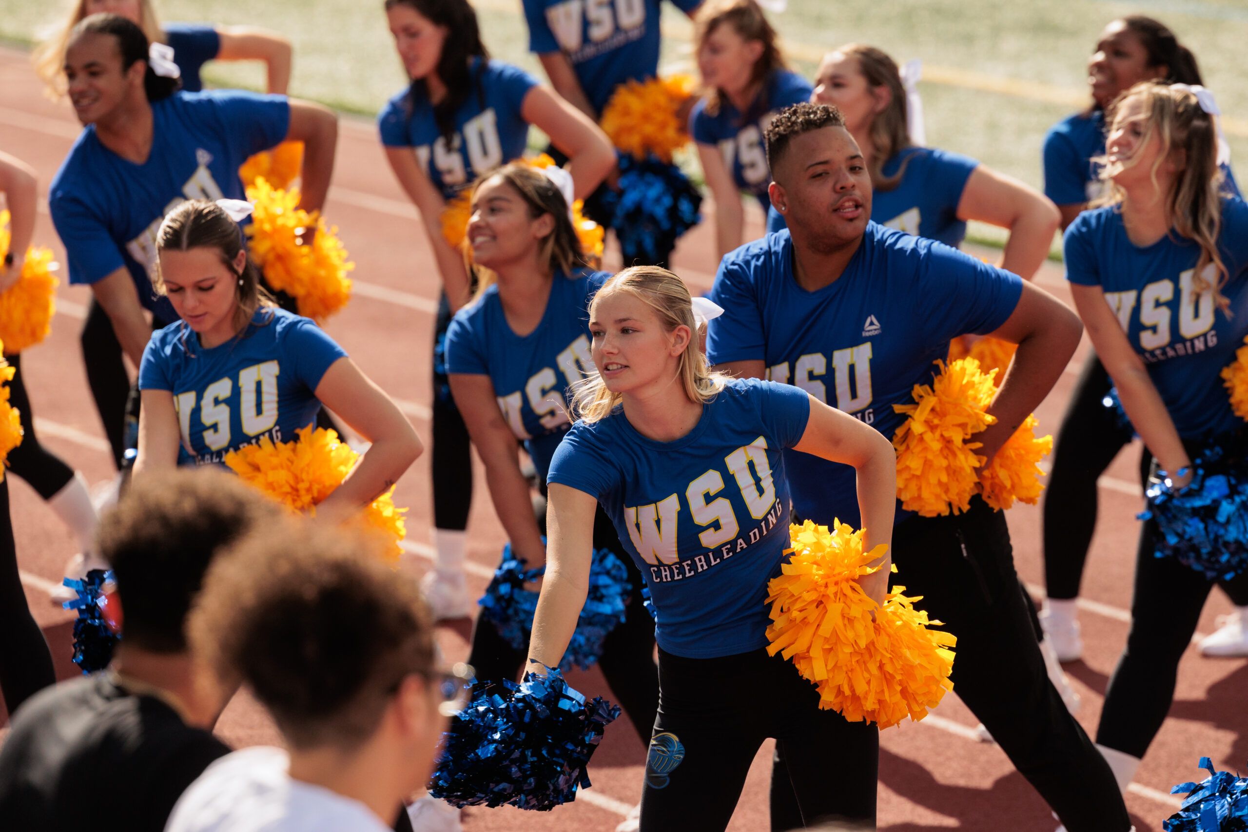
[(291, 442), (312, 424), (316, 388), (346, 354), (313, 321), (283, 309), (257, 309), (240, 338), (211, 349), (178, 321), (152, 333), (139, 389), (173, 394), (180, 465), (222, 464), (231, 450), (265, 437)]

